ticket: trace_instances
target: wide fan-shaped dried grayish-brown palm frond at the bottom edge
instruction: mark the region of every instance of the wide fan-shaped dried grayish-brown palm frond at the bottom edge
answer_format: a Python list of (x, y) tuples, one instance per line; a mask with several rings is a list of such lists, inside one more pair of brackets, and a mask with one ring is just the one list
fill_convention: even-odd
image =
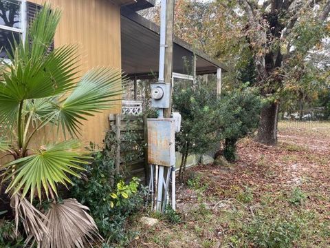
[(63, 204), (52, 203), (46, 213), (47, 228), (51, 236), (45, 237), (41, 248), (94, 247), (91, 242), (102, 240), (93, 218), (87, 214), (88, 207), (76, 199), (63, 200)]

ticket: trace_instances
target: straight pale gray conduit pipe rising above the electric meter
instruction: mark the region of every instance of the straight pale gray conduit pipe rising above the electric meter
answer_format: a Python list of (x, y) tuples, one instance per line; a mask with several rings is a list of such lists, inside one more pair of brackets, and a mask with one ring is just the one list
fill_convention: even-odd
[(160, 43), (158, 81), (164, 82), (166, 36), (166, 0), (160, 1)]

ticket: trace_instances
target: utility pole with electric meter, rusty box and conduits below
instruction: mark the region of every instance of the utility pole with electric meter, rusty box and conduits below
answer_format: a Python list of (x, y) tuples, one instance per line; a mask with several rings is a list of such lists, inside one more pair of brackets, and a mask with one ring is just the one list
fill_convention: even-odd
[(175, 209), (176, 128), (175, 118), (171, 118), (174, 1), (161, 0), (159, 73), (157, 83), (151, 84), (151, 106), (157, 108), (158, 118), (147, 119), (148, 163), (151, 165), (148, 189), (152, 207), (162, 212), (170, 199)]

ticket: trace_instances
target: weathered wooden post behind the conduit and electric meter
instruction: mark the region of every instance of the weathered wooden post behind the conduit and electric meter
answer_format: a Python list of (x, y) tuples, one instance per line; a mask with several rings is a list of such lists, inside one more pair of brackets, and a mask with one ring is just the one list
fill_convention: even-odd
[(174, 0), (166, 1), (166, 38), (165, 38), (165, 83), (170, 83), (170, 107), (164, 109), (164, 117), (170, 118), (172, 113), (172, 72), (173, 72), (173, 20)]

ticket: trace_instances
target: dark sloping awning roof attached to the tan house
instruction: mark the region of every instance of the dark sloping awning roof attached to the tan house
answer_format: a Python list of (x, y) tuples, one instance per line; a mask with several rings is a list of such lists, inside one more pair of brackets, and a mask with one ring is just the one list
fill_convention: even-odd
[[(122, 70), (129, 76), (153, 78), (158, 74), (159, 26), (139, 14), (122, 8), (121, 16)], [(217, 73), (225, 71), (225, 65), (188, 43), (175, 37), (173, 44), (173, 72), (192, 74), (192, 61), (196, 55), (196, 73)]]

